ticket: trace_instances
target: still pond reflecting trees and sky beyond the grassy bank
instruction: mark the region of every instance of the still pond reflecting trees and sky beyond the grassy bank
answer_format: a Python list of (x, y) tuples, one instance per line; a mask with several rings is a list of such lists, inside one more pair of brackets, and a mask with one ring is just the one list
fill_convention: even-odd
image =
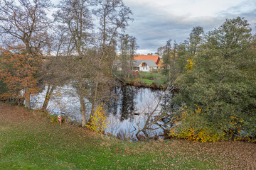
[[(80, 101), (75, 89), (71, 86), (58, 87), (50, 98), (48, 111), (53, 114), (66, 115), (71, 120), (81, 122)], [(105, 103), (110, 125), (105, 132), (121, 138), (134, 138), (139, 128), (144, 126), (146, 119), (154, 111), (157, 116), (159, 111), (166, 108), (170, 96), (164, 96), (164, 91), (149, 88), (137, 88), (135, 86), (115, 86), (112, 89), (112, 98)], [(33, 109), (41, 108), (46, 89), (37, 96), (31, 98)], [(163, 97), (164, 96), (164, 97)], [(85, 100), (87, 101), (87, 100)], [(87, 120), (90, 116), (91, 104), (86, 104)], [(157, 128), (157, 129), (156, 129)], [(163, 132), (157, 125), (152, 125), (149, 135), (161, 135)]]

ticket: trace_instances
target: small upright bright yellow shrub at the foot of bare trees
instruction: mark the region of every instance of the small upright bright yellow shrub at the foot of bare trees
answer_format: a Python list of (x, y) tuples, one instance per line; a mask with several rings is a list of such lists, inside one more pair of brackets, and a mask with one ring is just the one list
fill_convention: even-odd
[(91, 123), (90, 125), (86, 125), (87, 128), (90, 128), (92, 131), (96, 133), (103, 133), (107, 129), (107, 126), (110, 124), (107, 121), (107, 114), (105, 109), (103, 108), (103, 103), (97, 107), (94, 114), (91, 115)]

